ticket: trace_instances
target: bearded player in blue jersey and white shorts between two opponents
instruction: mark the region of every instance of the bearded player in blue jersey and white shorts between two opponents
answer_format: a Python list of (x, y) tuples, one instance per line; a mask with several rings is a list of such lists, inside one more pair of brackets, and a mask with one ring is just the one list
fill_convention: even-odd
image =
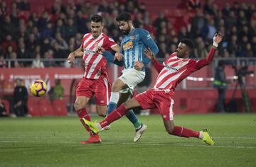
[[(124, 64), (122, 75), (112, 84), (107, 114), (110, 114), (117, 108), (117, 105), (121, 105), (127, 101), (134, 91), (134, 87), (144, 80), (144, 67), (150, 62), (149, 58), (144, 55), (144, 49), (150, 48), (154, 54), (159, 52), (156, 43), (147, 30), (134, 28), (129, 13), (121, 13), (117, 16), (116, 21), (121, 33), (124, 35), (121, 42), (120, 53), (115, 54), (113, 57), (110, 55), (110, 52), (103, 52), (104, 50), (99, 48), (99, 51), (102, 52), (108, 61), (113, 62), (115, 59), (115, 62), (117, 62), (117, 60), (122, 59)], [(142, 123), (139, 122), (133, 110), (129, 110), (126, 116), (135, 127), (134, 142), (137, 142), (142, 136), (142, 133), (146, 130), (146, 125), (142, 125)]]

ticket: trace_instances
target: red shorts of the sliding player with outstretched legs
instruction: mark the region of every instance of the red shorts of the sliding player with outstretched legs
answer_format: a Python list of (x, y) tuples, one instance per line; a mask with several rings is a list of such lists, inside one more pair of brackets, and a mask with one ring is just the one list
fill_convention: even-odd
[(151, 88), (149, 91), (138, 94), (134, 99), (142, 106), (142, 109), (158, 108), (163, 120), (174, 120), (174, 90), (168, 91)]

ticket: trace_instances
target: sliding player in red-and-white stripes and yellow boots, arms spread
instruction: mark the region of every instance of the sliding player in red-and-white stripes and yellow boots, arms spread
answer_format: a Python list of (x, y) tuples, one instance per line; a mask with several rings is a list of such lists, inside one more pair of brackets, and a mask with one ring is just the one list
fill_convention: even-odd
[(159, 64), (159, 62), (156, 61), (151, 50), (145, 49), (146, 56), (152, 60), (155, 69), (159, 72), (154, 88), (140, 93), (125, 102), (123, 105), (120, 105), (119, 108), (114, 110), (114, 112), (107, 115), (105, 120), (102, 120), (102, 122), (96, 123), (84, 120), (85, 125), (87, 125), (93, 133), (97, 134), (102, 131), (102, 128), (109, 125), (114, 120), (118, 120), (131, 108), (158, 108), (164, 121), (166, 132), (178, 137), (196, 137), (202, 139), (203, 142), (206, 142), (208, 145), (213, 145), (213, 139), (210, 137), (206, 129), (197, 132), (185, 127), (174, 125), (174, 91), (176, 86), (189, 74), (212, 62), (215, 50), (222, 39), (223, 36), (220, 33), (215, 34), (213, 37), (213, 47), (208, 53), (208, 56), (206, 59), (199, 60), (189, 59), (189, 55), (193, 52), (193, 42), (188, 39), (181, 40), (176, 52), (171, 54), (163, 64)]

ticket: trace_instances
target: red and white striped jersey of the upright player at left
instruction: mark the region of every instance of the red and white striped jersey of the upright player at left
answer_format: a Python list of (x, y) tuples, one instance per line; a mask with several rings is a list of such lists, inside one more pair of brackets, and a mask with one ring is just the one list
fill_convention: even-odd
[(82, 62), (85, 67), (85, 78), (100, 79), (107, 76), (107, 59), (96, 52), (97, 46), (103, 47), (105, 50), (111, 50), (114, 45), (117, 45), (116, 42), (103, 33), (97, 38), (93, 38), (91, 33), (83, 36), (81, 47), (83, 49)]

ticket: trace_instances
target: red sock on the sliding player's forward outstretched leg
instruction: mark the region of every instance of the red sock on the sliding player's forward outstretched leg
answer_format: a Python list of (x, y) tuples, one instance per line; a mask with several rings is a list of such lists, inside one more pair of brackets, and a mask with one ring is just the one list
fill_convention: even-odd
[(114, 120), (118, 120), (120, 117), (125, 115), (127, 113), (127, 109), (124, 108), (124, 105), (120, 105), (119, 108), (115, 109), (107, 115), (107, 117), (100, 122), (100, 126), (103, 128), (107, 125), (110, 125), (111, 122), (114, 122)]

